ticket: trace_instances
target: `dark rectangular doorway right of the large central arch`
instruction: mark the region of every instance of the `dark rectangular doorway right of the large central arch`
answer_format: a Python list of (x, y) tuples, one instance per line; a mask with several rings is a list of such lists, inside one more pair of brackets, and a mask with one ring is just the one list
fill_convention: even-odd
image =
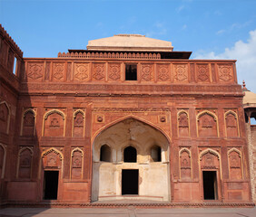
[(204, 200), (217, 200), (216, 171), (202, 171)]

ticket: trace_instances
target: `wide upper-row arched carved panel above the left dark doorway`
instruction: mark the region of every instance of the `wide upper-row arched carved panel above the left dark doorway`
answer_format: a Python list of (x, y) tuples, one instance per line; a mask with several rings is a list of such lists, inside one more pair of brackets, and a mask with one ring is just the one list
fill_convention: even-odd
[(59, 113), (52, 113), (44, 120), (44, 137), (64, 136), (64, 117)]

